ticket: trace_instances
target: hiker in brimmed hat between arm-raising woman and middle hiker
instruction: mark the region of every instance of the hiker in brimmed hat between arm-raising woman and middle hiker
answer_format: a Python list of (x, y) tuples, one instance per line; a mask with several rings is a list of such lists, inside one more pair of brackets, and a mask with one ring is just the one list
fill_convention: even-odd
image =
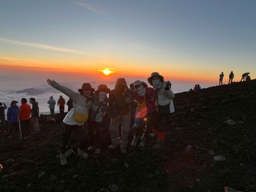
[(102, 117), (106, 115), (108, 108), (107, 94), (109, 92), (110, 89), (107, 85), (100, 84), (98, 90), (92, 94), (92, 105), (89, 110), (89, 118), (87, 121), (89, 137), (88, 151), (93, 151), (95, 148), (95, 155), (100, 154), (102, 140), (101, 122)]

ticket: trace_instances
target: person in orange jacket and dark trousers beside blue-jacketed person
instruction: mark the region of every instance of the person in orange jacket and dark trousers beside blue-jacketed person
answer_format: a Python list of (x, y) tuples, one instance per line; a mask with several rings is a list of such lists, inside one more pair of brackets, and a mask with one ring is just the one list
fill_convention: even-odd
[(27, 103), (26, 98), (21, 99), (21, 106), (19, 110), (18, 119), (20, 120), (20, 139), (27, 139), (30, 137), (29, 116), (31, 114), (31, 107)]

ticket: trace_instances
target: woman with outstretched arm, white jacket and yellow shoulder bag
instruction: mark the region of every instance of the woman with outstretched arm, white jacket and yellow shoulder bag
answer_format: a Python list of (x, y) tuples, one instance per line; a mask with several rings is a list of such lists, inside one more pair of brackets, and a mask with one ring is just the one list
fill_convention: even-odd
[(89, 155), (84, 152), (86, 145), (86, 133), (84, 131), (84, 123), (88, 119), (89, 108), (92, 104), (92, 93), (95, 91), (91, 84), (84, 83), (81, 89), (78, 89), (79, 93), (72, 91), (71, 89), (60, 85), (54, 80), (47, 79), (47, 83), (55, 89), (63, 92), (70, 99), (73, 100), (74, 108), (72, 108), (63, 119), (63, 128), (60, 143), (60, 163), (61, 165), (67, 165), (66, 146), (72, 130), (79, 138), (78, 156), (82, 156), (84, 159)]

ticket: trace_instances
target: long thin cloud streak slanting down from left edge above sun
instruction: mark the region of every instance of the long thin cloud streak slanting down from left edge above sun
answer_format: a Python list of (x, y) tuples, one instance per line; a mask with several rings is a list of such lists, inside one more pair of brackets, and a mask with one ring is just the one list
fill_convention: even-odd
[(102, 55), (88, 53), (88, 52), (84, 52), (84, 51), (81, 51), (81, 50), (66, 49), (66, 48), (62, 48), (62, 47), (54, 47), (54, 46), (45, 45), (45, 44), (37, 44), (37, 43), (31, 43), (31, 42), (21, 42), (21, 41), (14, 41), (14, 40), (10, 40), (10, 39), (0, 39), (0, 41), (7, 42), (7, 43), (25, 45), (25, 46), (29, 46), (29, 47), (36, 47), (36, 48), (39, 48), (39, 49), (46, 49), (46, 50), (60, 51), (60, 52), (68, 52), (68, 53), (88, 55), (88, 56), (94, 56), (94, 57), (104, 57)]

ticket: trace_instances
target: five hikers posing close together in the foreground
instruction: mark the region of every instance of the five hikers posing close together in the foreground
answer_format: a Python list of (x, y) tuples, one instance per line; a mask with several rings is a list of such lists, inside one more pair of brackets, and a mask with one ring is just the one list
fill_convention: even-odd
[[(60, 85), (54, 80), (47, 79), (47, 83), (67, 95), (73, 100), (73, 108), (63, 119), (63, 129), (60, 144), (60, 163), (67, 165), (67, 144), (72, 131), (79, 138), (78, 155), (88, 158), (85, 152), (87, 143), (85, 123), (87, 123), (87, 134), (89, 139), (88, 151), (94, 151), (100, 154), (101, 122), (102, 117), (106, 115), (109, 108), (111, 120), (109, 133), (112, 139), (110, 150), (120, 148), (122, 154), (127, 153), (126, 146), (130, 133), (131, 108), (137, 108), (139, 114), (138, 125), (135, 127), (135, 134), (131, 146), (136, 147), (140, 141), (140, 147), (144, 147), (147, 138), (152, 133), (153, 128), (158, 135), (157, 143), (152, 147), (161, 149), (164, 146), (166, 122), (170, 114), (174, 112), (172, 99), (175, 97), (171, 90), (171, 83), (165, 82), (164, 77), (157, 72), (153, 72), (148, 77), (148, 83), (153, 86), (148, 87), (145, 82), (136, 80), (133, 88), (129, 89), (124, 78), (118, 78), (113, 90), (110, 90), (106, 84), (100, 84), (95, 91), (90, 83), (84, 83), (78, 92), (74, 92), (68, 87)], [(107, 97), (109, 94), (109, 98)], [(122, 123), (121, 138), (119, 138), (119, 122)], [(156, 131), (157, 130), (157, 131)]]

